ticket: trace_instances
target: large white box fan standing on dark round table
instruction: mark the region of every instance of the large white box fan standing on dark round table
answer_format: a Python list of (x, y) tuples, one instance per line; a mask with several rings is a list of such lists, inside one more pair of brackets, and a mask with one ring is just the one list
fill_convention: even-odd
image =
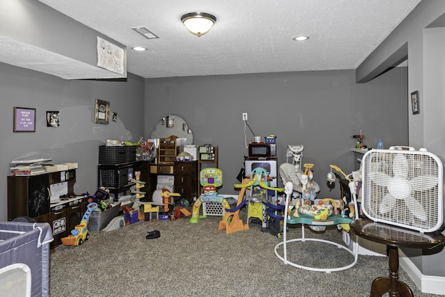
[(369, 150), (362, 159), (362, 211), (375, 222), (433, 232), (443, 223), (442, 161), (426, 149)]

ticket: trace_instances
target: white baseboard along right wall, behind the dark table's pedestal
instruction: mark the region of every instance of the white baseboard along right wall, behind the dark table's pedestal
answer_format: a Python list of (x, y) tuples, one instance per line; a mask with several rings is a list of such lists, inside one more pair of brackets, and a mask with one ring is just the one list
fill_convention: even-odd
[[(399, 263), (401, 268), (412, 279), (414, 284), (422, 293), (442, 295), (445, 291), (445, 277), (434, 275), (423, 275), (419, 268), (411, 262), (401, 249), (398, 250)], [(403, 281), (403, 280), (402, 280)]]

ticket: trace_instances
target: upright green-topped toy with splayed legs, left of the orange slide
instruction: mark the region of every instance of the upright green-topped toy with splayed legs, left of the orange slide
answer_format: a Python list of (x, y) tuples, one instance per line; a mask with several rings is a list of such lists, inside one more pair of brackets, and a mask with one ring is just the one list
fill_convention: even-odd
[[(197, 198), (193, 204), (192, 217), (190, 223), (198, 223), (201, 218), (207, 218), (207, 214), (213, 216), (224, 216), (225, 209), (229, 209), (229, 203), (223, 196), (218, 196), (216, 188), (223, 185), (223, 172), (218, 168), (204, 168), (200, 172), (200, 184), (202, 186), (203, 194)], [(203, 207), (203, 214), (200, 216), (201, 204), (219, 204), (217, 211), (207, 212), (205, 205)], [(215, 206), (215, 205), (213, 205)]]

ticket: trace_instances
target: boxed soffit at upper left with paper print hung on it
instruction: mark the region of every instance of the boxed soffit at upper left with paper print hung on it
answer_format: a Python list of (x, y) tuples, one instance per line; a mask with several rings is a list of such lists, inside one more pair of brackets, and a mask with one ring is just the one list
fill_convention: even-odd
[[(108, 52), (101, 51), (102, 42), (119, 51), (119, 71), (103, 63)], [(126, 51), (115, 40), (40, 1), (0, 1), (2, 63), (63, 79), (125, 79)]]

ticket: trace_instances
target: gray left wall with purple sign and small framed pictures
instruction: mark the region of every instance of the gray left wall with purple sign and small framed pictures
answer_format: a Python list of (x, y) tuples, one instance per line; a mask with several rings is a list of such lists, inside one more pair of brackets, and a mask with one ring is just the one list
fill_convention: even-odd
[[(0, 220), (7, 220), (9, 163), (29, 152), (55, 163), (77, 162), (75, 192), (97, 188), (98, 146), (107, 139), (136, 142), (143, 134), (144, 80), (67, 81), (0, 63)], [(110, 102), (118, 121), (94, 123), (95, 99)], [(36, 109), (35, 133), (13, 133), (13, 108)], [(46, 111), (60, 111), (60, 127), (47, 127)]]

